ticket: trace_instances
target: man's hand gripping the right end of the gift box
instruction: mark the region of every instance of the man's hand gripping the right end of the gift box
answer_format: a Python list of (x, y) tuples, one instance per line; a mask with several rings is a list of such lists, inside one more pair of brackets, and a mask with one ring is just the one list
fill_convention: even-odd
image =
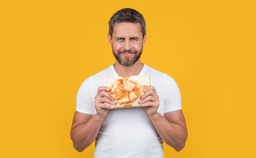
[(156, 93), (154, 86), (149, 86), (144, 89), (144, 94), (141, 95), (141, 106), (145, 108), (148, 117), (156, 115), (159, 107), (159, 96)]

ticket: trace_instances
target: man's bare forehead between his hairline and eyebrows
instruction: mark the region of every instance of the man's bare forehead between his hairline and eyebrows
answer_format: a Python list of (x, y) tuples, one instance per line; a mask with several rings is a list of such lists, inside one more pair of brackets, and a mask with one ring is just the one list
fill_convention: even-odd
[(139, 22), (120, 22), (113, 27), (113, 36), (143, 36)]

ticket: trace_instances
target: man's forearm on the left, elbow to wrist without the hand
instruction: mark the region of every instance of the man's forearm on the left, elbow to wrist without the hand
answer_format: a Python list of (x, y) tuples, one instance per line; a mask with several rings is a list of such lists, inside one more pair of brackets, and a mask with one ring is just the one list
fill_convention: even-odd
[(79, 124), (71, 130), (71, 138), (73, 145), (77, 151), (82, 152), (96, 139), (100, 126), (102, 125), (103, 118), (98, 115), (93, 115), (90, 120)]

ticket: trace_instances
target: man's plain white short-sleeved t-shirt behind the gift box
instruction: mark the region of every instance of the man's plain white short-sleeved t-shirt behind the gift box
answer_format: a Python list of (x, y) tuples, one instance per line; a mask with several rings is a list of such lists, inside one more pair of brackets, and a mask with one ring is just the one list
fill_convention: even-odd
[[(156, 88), (160, 106), (158, 113), (164, 115), (181, 109), (181, 94), (175, 80), (146, 64), (139, 75), (150, 75), (150, 85)], [(119, 76), (113, 65), (88, 77), (77, 93), (76, 111), (95, 115), (94, 97), (102, 78)], [(144, 107), (112, 109), (102, 122), (96, 138), (94, 157), (96, 158), (161, 158), (164, 157), (162, 139), (148, 118)]]

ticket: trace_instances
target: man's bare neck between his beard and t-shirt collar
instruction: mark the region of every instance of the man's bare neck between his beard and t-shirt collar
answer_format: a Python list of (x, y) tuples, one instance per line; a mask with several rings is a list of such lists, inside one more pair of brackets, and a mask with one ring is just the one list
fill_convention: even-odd
[(118, 63), (118, 61), (115, 61), (115, 64), (113, 65), (113, 68), (115, 69), (115, 72), (119, 76), (136, 76), (139, 75), (141, 70), (143, 70), (143, 63), (141, 63), (140, 60), (138, 60), (134, 65), (132, 66), (123, 66)]

